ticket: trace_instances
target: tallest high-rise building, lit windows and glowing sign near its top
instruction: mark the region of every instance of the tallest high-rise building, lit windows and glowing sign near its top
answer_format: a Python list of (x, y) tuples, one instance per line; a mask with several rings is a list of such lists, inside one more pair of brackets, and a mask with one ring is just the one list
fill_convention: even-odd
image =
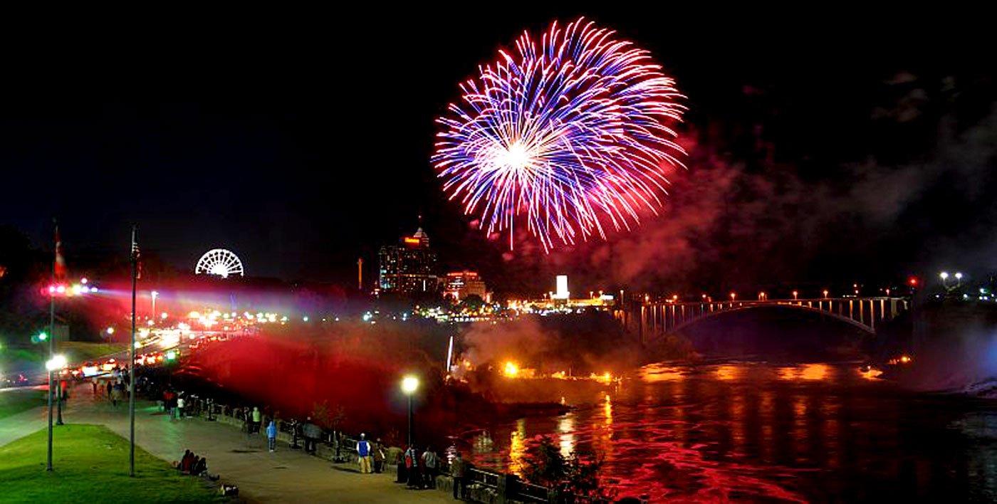
[(423, 228), (412, 236), (402, 237), (398, 245), (381, 247), (379, 260), (381, 292), (402, 295), (439, 292), (436, 252), (430, 249), (430, 237)]

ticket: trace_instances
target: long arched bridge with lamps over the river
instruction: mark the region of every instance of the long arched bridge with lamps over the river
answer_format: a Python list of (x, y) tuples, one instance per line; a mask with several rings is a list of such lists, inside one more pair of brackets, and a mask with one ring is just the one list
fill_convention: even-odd
[(909, 310), (910, 300), (854, 297), (722, 302), (645, 301), (615, 310), (613, 316), (627, 331), (638, 335), (641, 343), (647, 343), (721, 314), (772, 307), (818, 313), (875, 334), (877, 324), (893, 320)]

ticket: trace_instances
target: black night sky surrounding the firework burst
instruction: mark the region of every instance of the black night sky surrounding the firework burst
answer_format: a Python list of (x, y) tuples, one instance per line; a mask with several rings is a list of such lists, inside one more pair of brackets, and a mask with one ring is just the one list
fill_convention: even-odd
[[(521, 30), (582, 14), (651, 50), (677, 79), (689, 97), (685, 132), (700, 137), (701, 156), (715, 152), (739, 176), (768, 178), (776, 168), (759, 160), (756, 147), (773, 145), (769, 161), (779, 176), (791, 172), (788, 190), (798, 193), (857, 197), (848, 189), (856, 163), (898, 170), (930, 164), (940, 125), (955, 122), (961, 138), (986, 121), (994, 97), (992, 43), (969, 22), (971, 13), (676, 12), (614, 3), (352, 9), (210, 19), (170, 13), (139, 18), (126, 30), (107, 20), (13, 39), (0, 98), (0, 223), (38, 244), (56, 215), (72, 256), (127, 253), (135, 222), (144, 249), (176, 266), (192, 268), (203, 251), (224, 247), (252, 275), (346, 281), (359, 255), (373, 264), (377, 248), (414, 231), (422, 212), (449, 267), (512, 278), (545, 272), (543, 257), (502, 260), (500, 242), (469, 232), (469, 219), (445, 200), (429, 164), (434, 119), (459, 97), (457, 83)], [(898, 79), (902, 72), (914, 81)], [(944, 84), (953, 76), (955, 91)], [(992, 145), (990, 133), (977, 134), (984, 137), (974, 145)], [(989, 169), (987, 152), (974, 162)], [(704, 166), (691, 162), (680, 176), (692, 179)], [(897, 178), (909, 178), (903, 173)], [(943, 170), (923, 185), (931, 192), (950, 175)], [(744, 195), (746, 185), (754, 187), (746, 181), (714, 196), (725, 207), (764, 198), (756, 189)], [(979, 198), (955, 197), (959, 212), (977, 210)], [(927, 222), (918, 232), (968, 240), (994, 221), (992, 208), (982, 221), (967, 222), (932, 201), (904, 199), (877, 225), (895, 229), (902, 217)], [(804, 211), (799, 198), (787, 205), (795, 206), (783, 210)], [(927, 219), (938, 211), (942, 221)], [(879, 233), (865, 240), (863, 233), (878, 228), (862, 215), (847, 216), (851, 224), (838, 217), (834, 226), (868, 246), (831, 249), (823, 266), (801, 260), (778, 274), (806, 278), (829, 262), (861, 262), (870, 271), (888, 264), (902, 273), (935, 260), (908, 251), (900, 258), (907, 264), (897, 266), (892, 248), (913, 247), (916, 238), (900, 233), (883, 243)], [(816, 236), (799, 246), (818, 249), (828, 240)], [(707, 241), (696, 247), (716, 243)], [(820, 255), (810, 252), (801, 257)]]

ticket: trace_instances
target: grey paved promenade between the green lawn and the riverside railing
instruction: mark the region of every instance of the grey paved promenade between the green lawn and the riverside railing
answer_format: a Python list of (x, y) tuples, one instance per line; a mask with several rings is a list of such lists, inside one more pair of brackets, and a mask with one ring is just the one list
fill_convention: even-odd
[[(4, 419), (0, 445), (44, 427), (44, 412), (45, 408), (33, 409)], [(10, 421), (14, 418), (24, 421)], [(63, 409), (63, 421), (103, 424), (128, 439), (128, 402), (116, 408), (107, 400), (95, 399), (89, 387), (80, 386)], [(19, 425), (8, 425), (13, 423)], [(222, 482), (238, 485), (240, 497), (250, 502), (451, 501), (437, 490), (406, 490), (394, 482), (393, 467), (391, 474), (360, 474), (352, 464), (332, 464), (281, 442), (270, 453), (264, 437), (247, 439), (232, 426), (203, 418), (170, 421), (149, 401), (136, 403), (135, 430), (136, 443), (164, 460), (178, 459), (187, 448), (206, 457), (210, 472), (220, 474)], [(58, 429), (55, 435), (58, 448)]]

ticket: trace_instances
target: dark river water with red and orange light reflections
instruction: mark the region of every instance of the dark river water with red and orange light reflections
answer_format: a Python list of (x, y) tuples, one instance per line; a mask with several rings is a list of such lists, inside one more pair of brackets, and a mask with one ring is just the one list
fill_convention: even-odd
[(613, 383), (509, 379), (562, 415), (467, 433), (478, 465), (520, 472), (539, 435), (592, 449), (618, 496), (658, 501), (997, 500), (997, 409), (905, 391), (856, 365), (651, 365)]

